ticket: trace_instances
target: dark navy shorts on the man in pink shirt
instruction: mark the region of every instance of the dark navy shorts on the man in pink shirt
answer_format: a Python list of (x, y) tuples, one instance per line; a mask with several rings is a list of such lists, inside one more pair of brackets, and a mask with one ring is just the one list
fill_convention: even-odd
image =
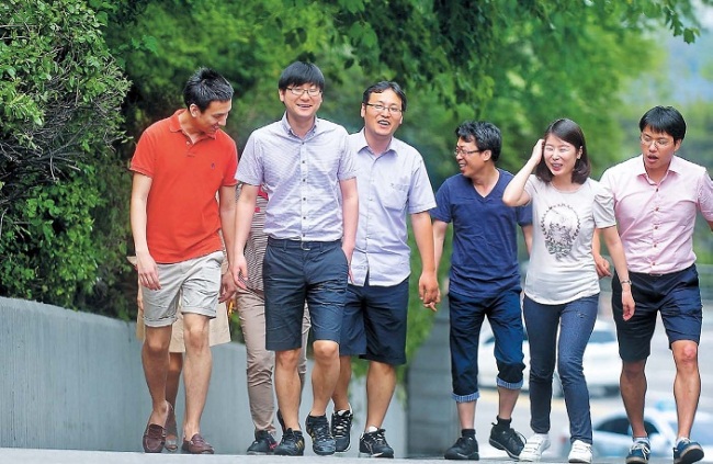
[(660, 275), (630, 272), (629, 278), (636, 308), (634, 316), (626, 321), (623, 319), (619, 278), (614, 275), (612, 279), (611, 303), (622, 360), (633, 362), (648, 358), (659, 312), (669, 348), (678, 340), (700, 342), (703, 304), (695, 264)]

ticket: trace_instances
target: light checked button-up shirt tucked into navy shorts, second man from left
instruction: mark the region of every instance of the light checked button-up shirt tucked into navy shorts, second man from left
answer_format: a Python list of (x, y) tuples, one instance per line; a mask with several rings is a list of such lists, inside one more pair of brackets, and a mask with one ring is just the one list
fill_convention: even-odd
[(339, 182), (356, 176), (347, 137), (342, 126), (316, 118), (299, 138), (286, 113), (250, 135), (236, 179), (268, 193), (265, 234), (302, 241), (342, 238)]

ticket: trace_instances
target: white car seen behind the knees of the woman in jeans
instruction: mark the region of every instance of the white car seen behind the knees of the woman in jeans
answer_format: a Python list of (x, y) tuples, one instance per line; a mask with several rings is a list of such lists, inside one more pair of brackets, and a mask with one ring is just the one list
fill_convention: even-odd
[[(484, 326), (485, 327), (485, 326)], [(495, 337), (491, 332), (483, 332), (478, 348), (478, 382), (482, 387), (497, 386), (496, 377), (498, 367), (495, 362)], [(522, 352), (524, 353), (524, 384), (522, 389), (528, 389), (530, 377), (530, 343), (525, 331), (522, 340)], [(616, 331), (614, 324), (606, 320), (597, 320), (595, 330), (589, 338), (585, 350), (585, 377), (590, 395), (613, 395), (619, 393), (619, 374), (621, 372), (621, 359), (619, 358), (619, 344), (616, 343)], [(553, 383), (553, 395), (562, 396), (562, 384), (555, 370)]]

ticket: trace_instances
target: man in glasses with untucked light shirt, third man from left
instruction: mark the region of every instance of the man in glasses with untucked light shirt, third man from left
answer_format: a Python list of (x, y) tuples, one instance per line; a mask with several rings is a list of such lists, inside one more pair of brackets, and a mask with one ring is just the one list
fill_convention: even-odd
[(406, 95), (395, 82), (378, 82), (364, 91), (364, 128), (349, 136), (359, 186), (359, 227), (347, 292), (339, 357), (341, 371), (332, 396), (331, 432), (337, 452), (350, 446), (351, 358), (369, 360), (367, 412), (360, 455), (394, 457), (382, 423), (396, 387), (396, 365), (406, 363), (406, 316), (410, 274), (406, 216), (411, 216), (423, 264), (419, 295), (435, 310), (440, 299), (429, 210), (433, 190), (421, 155), (394, 138), (404, 121)]

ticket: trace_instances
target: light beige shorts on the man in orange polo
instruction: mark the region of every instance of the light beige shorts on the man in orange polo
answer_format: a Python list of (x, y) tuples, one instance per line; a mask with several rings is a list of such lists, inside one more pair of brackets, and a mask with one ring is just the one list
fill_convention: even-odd
[(171, 264), (157, 264), (159, 290), (142, 287), (144, 297), (144, 325), (166, 327), (177, 319), (177, 310), (216, 316), (220, 291), (223, 251), (215, 251)]

